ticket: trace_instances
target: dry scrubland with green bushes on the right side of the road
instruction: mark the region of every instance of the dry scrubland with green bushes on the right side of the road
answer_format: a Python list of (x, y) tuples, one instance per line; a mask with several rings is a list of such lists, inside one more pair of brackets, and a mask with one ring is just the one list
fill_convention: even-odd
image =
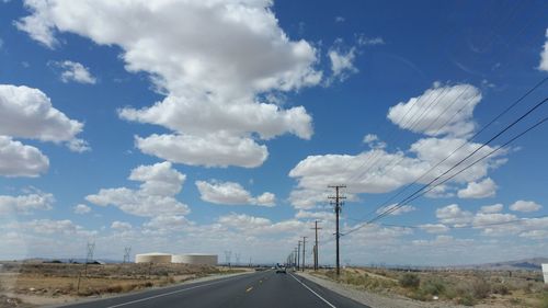
[(387, 296), (404, 296), (421, 301), (443, 301), (464, 306), (478, 304), (504, 307), (548, 308), (548, 287), (541, 274), (533, 271), (397, 271), (386, 269), (344, 269), (312, 272)]

